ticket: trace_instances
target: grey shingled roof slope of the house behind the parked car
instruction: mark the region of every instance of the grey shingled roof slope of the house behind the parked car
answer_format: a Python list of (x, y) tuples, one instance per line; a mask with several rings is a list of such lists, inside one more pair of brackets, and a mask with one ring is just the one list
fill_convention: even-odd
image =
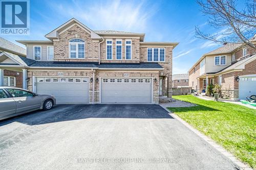
[(0, 37), (0, 50), (13, 53), (16, 55), (24, 56), (24, 57), (27, 55), (25, 48), (18, 46), (2, 37)]

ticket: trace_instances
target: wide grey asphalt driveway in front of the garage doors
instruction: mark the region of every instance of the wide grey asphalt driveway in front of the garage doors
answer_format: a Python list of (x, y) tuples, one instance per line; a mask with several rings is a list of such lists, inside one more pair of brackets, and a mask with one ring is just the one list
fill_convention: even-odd
[(0, 122), (0, 169), (236, 169), (159, 105), (58, 105)]

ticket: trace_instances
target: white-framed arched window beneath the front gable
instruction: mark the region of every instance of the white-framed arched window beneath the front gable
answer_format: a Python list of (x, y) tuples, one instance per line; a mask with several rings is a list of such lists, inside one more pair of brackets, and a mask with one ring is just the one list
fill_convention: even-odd
[(79, 38), (69, 40), (69, 58), (85, 58), (84, 40)]

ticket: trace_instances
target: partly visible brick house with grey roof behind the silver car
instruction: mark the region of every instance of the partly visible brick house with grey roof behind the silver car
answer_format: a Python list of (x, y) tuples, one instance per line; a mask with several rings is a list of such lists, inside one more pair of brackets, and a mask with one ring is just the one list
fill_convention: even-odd
[[(12, 58), (6, 55), (13, 56), (12, 58), (26, 57), (26, 49), (20, 47), (2, 37), (0, 37), (0, 63), (1, 65), (16, 64)], [(0, 66), (1, 67), (1, 66)], [(23, 88), (23, 72), (20, 69), (8, 68), (2, 69), (0, 75), (3, 75), (0, 81), (3, 86)]]

